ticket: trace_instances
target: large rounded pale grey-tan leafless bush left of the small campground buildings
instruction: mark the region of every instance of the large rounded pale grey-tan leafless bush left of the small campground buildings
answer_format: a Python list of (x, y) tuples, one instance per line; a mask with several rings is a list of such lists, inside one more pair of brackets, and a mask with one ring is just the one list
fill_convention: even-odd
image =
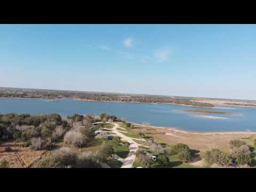
[(74, 145), (74, 146), (83, 146), (89, 140), (89, 138), (84, 137), (82, 133), (76, 131), (68, 131), (64, 137), (64, 142)]

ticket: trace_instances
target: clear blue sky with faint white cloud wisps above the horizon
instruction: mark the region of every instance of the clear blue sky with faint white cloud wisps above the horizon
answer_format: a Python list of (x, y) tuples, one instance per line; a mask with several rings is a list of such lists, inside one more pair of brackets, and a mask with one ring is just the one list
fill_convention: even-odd
[(256, 25), (0, 25), (0, 86), (256, 99)]

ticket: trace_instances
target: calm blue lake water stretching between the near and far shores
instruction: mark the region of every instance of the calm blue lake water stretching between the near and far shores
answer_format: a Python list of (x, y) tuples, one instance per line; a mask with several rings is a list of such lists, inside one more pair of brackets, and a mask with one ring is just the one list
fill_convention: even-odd
[[(223, 106), (221, 106), (223, 107)], [(181, 113), (180, 109), (204, 109), (166, 104), (144, 103), (114, 103), (93, 102), (62, 99), (60, 102), (46, 102), (44, 99), (0, 99), (0, 113), (44, 114), (57, 113), (61, 115), (100, 115), (108, 113), (124, 117), (135, 123), (148, 122), (153, 126), (176, 127), (180, 130), (196, 132), (215, 131), (256, 131), (256, 108), (230, 107), (234, 109), (211, 109), (239, 113), (237, 115), (191, 114)], [(209, 108), (205, 108), (209, 110)], [(198, 118), (194, 115), (210, 115), (227, 117), (227, 119)]]

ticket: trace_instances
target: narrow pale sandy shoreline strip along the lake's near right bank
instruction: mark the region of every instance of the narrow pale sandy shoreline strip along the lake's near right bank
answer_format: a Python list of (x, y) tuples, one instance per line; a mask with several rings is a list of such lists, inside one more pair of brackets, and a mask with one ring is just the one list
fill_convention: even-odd
[(133, 122), (129, 122), (132, 123), (134, 125), (138, 125), (141, 127), (152, 127), (155, 129), (164, 129), (164, 130), (169, 130), (169, 131), (173, 131), (174, 133), (186, 133), (186, 134), (198, 134), (198, 135), (218, 135), (218, 134), (256, 134), (256, 132), (252, 132), (252, 131), (230, 131), (230, 132), (193, 132), (193, 131), (184, 131), (184, 130), (180, 130), (177, 129), (176, 127), (163, 127), (163, 126), (151, 126), (151, 125), (142, 125), (142, 124), (138, 124), (138, 123), (133, 123)]

